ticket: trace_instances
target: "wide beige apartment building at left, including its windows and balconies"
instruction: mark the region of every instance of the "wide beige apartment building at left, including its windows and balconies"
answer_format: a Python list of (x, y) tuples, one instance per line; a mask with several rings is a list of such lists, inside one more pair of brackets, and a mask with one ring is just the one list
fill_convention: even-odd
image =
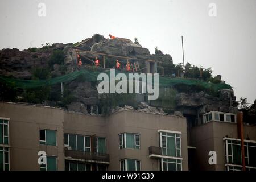
[(0, 170), (188, 170), (187, 147), (184, 117), (0, 102)]

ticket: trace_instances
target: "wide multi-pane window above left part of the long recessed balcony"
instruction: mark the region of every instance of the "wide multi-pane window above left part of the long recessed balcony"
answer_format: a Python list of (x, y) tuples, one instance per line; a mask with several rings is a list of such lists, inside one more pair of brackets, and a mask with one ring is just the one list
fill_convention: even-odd
[(64, 145), (71, 147), (71, 150), (90, 152), (90, 137), (64, 134)]

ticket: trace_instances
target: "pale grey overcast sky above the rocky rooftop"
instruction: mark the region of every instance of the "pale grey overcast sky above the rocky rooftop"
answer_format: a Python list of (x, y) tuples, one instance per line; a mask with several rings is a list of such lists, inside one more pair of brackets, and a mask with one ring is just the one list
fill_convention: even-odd
[(256, 0), (0, 0), (0, 25), (0, 49), (112, 34), (158, 47), (174, 64), (183, 36), (185, 63), (222, 75), (237, 100), (256, 99)]

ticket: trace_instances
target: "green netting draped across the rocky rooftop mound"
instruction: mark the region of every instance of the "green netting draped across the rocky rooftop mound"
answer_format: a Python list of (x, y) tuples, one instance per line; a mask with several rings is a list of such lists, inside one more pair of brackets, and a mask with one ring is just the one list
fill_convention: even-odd
[[(115, 72), (119, 73), (119, 71), (115, 71)], [(0, 76), (0, 81), (5, 82), (6, 84), (11, 84), (15, 88), (28, 89), (28, 88), (36, 88), (40, 86), (54, 85), (61, 82), (70, 82), (80, 76), (82, 77), (82, 79), (85, 79), (86, 81), (97, 81), (97, 76), (100, 73), (106, 73), (110, 76), (109, 70), (89, 71), (86, 69), (82, 69), (80, 71), (75, 71), (75, 72), (68, 73), (66, 75), (55, 77), (55, 78), (50, 78), (48, 80), (19, 80), (19, 79), (9, 78), (5, 76)], [(196, 79), (170, 78), (170, 77), (159, 76), (160, 87), (170, 87), (178, 84), (197, 86), (202, 89), (211, 89), (214, 92), (217, 92), (218, 90), (221, 90), (221, 89), (232, 89), (230, 85), (224, 84), (224, 83), (213, 84), (210, 82), (205, 82), (205, 81), (196, 80)]]

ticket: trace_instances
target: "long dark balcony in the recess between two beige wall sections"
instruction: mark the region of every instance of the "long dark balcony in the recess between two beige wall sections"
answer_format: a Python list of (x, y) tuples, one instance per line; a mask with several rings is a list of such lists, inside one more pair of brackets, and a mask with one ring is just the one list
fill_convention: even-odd
[(92, 163), (109, 163), (109, 154), (96, 152), (84, 152), (65, 149), (65, 157), (78, 160), (85, 160)]

